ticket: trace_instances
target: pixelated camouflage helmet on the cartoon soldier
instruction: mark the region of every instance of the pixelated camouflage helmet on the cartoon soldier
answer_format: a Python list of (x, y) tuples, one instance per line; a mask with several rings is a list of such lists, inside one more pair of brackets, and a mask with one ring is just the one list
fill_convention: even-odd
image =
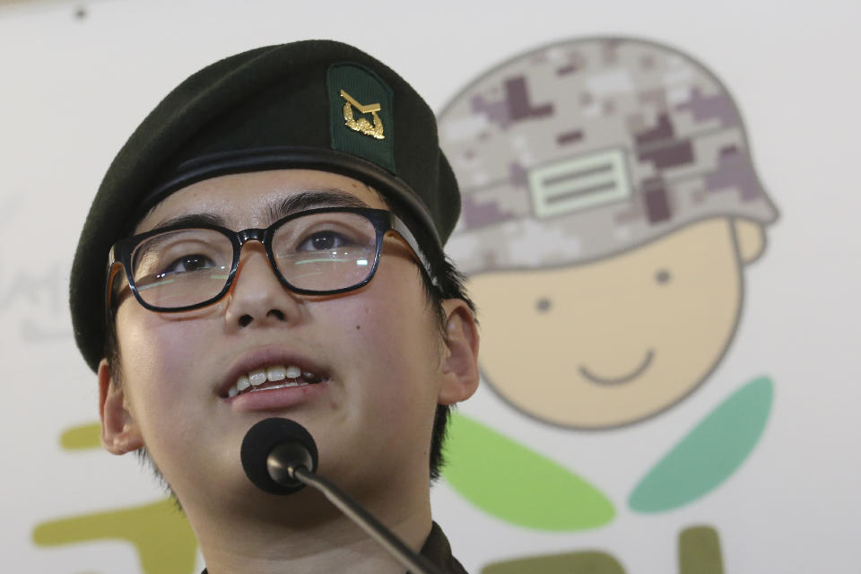
[(735, 101), (691, 57), (575, 39), (496, 67), (439, 115), (465, 274), (576, 265), (718, 216), (777, 219)]

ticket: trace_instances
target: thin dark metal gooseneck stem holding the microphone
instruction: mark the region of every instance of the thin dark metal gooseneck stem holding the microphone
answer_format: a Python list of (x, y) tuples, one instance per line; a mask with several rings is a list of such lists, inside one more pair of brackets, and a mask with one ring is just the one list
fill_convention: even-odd
[(314, 487), (317, 491), (323, 493), (324, 496), (349, 517), (356, 525), (376, 540), (378, 544), (383, 546), (397, 561), (406, 567), (413, 574), (442, 574), (439, 569), (431, 564), (427, 558), (420, 554), (416, 554), (413, 550), (404, 544), (400, 538), (393, 535), (392, 532), (383, 526), (377, 518), (373, 517), (370, 512), (362, 509), (349, 496), (339, 489), (335, 484), (328, 482), (325, 478), (312, 473), (307, 467), (288, 466), (288, 473), (294, 480), (308, 486)]

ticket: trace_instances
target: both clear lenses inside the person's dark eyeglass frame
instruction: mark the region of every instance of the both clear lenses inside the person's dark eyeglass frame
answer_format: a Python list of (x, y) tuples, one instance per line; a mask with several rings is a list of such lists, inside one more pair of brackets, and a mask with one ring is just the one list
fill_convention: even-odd
[[(275, 230), (272, 253), (284, 280), (297, 289), (348, 289), (373, 270), (377, 232), (358, 213), (310, 213)], [(222, 232), (169, 230), (138, 244), (132, 274), (147, 304), (171, 309), (217, 296), (227, 284), (232, 262), (233, 243)]]

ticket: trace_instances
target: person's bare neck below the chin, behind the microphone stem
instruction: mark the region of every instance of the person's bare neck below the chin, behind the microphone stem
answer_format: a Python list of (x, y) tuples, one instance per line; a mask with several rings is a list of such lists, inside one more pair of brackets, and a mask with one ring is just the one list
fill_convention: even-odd
[[(223, 502), (223, 501), (222, 501)], [(431, 532), (431, 505), (384, 496), (363, 506), (418, 552)], [(404, 567), (323, 495), (254, 493), (238, 511), (186, 509), (209, 574), (351, 572), (403, 574)], [(259, 510), (259, 511), (255, 511)]]

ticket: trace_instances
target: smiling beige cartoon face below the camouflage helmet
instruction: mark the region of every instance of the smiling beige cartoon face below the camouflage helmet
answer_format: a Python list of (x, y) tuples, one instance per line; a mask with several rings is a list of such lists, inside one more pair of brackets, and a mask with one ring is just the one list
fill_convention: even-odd
[(717, 218), (588, 264), (471, 277), (483, 374), (517, 409), (565, 427), (660, 413), (717, 366), (742, 267), (764, 247), (759, 224)]

